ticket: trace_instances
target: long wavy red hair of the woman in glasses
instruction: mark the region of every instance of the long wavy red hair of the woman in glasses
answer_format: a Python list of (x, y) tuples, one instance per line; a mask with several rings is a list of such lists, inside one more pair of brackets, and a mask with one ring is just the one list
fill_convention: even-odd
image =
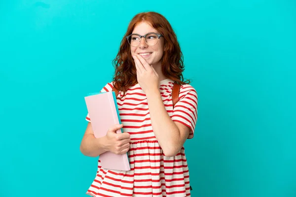
[(115, 88), (123, 91), (123, 95), (130, 86), (138, 83), (135, 62), (131, 56), (130, 45), (125, 38), (130, 35), (137, 24), (147, 22), (152, 28), (161, 33), (164, 37), (164, 53), (162, 56), (162, 73), (169, 79), (179, 84), (189, 84), (184, 81), (182, 72), (184, 71), (183, 54), (177, 36), (167, 19), (156, 12), (142, 12), (134, 16), (129, 23), (127, 31), (123, 36), (116, 58), (112, 61), (115, 68), (113, 81)]

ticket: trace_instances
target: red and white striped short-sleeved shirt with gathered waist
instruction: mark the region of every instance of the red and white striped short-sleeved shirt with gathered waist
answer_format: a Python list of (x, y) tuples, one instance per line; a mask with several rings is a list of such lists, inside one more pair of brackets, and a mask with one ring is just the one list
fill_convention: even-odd
[[(160, 94), (173, 121), (190, 128), (193, 137), (197, 121), (197, 93), (191, 85), (181, 85), (179, 101), (173, 108), (171, 79), (160, 81)], [(108, 83), (101, 92), (112, 91)], [(147, 97), (139, 84), (130, 87), (117, 104), (123, 132), (130, 134), (128, 151), (131, 170), (98, 171), (86, 194), (93, 197), (190, 197), (189, 170), (184, 147), (174, 157), (166, 157), (152, 131)], [(90, 122), (87, 114), (86, 120)]]

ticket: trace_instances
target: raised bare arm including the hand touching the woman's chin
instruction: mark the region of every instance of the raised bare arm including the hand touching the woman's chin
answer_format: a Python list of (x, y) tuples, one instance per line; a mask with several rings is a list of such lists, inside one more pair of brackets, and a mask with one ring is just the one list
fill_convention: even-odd
[(175, 156), (183, 147), (190, 129), (174, 122), (167, 113), (159, 92), (159, 76), (140, 55), (133, 57), (137, 79), (148, 100), (150, 120), (155, 137), (165, 156)]

